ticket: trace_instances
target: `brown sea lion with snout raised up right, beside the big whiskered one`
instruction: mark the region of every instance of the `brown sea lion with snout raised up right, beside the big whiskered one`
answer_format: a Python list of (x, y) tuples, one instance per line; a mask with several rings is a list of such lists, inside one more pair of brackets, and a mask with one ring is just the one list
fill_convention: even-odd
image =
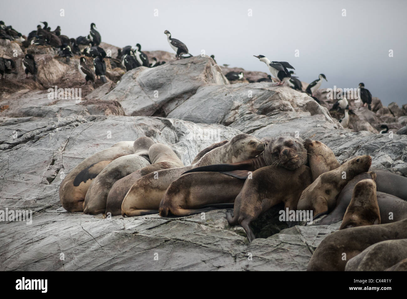
[(323, 173), (302, 192), (297, 210), (313, 210), (316, 216), (333, 209), (339, 192), (355, 175), (368, 171), (370, 164), (370, 156), (358, 156), (334, 170)]

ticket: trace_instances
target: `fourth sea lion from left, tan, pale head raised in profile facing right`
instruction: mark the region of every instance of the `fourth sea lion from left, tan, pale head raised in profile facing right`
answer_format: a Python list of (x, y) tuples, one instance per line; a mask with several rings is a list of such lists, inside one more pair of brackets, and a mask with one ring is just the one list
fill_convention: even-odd
[(158, 213), (160, 201), (168, 186), (183, 172), (197, 166), (234, 163), (263, 152), (264, 143), (248, 134), (238, 134), (223, 146), (206, 153), (196, 164), (182, 168), (163, 169), (138, 179), (127, 192), (122, 204), (123, 216)]

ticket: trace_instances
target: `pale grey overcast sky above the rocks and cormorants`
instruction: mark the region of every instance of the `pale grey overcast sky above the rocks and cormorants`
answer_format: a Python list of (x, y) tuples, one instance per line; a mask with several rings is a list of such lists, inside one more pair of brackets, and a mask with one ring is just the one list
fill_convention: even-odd
[(301, 81), (324, 73), (322, 88), (363, 82), (383, 104), (401, 106), (407, 103), (406, 11), (404, 0), (14, 0), (2, 2), (1, 18), (25, 35), (48, 21), (51, 30), (59, 25), (61, 34), (75, 38), (88, 35), (94, 22), (106, 43), (173, 52), (168, 30), (191, 54), (205, 50), (220, 65), (268, 73), (253, 57), (261, 54), (291, 63)]

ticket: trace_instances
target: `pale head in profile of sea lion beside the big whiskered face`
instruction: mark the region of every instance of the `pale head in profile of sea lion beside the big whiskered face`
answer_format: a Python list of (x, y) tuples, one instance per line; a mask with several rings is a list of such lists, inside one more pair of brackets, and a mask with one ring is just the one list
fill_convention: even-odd
[(263, 153), (266, 145), (249, 134), (238, 134), (230, 140), (234, 157), (239, 157), (237, 161), (244, 161), (254, 158)]

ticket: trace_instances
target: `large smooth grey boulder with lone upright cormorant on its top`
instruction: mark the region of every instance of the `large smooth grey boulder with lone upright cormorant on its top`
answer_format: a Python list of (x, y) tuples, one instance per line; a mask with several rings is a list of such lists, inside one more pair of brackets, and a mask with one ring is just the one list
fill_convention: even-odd
[(197, 56), (130, 70), (101, 100), (119, 101), (126, 115), (165, 117), (208, 84), (223, 85), (228, 80), (212, 59)]

